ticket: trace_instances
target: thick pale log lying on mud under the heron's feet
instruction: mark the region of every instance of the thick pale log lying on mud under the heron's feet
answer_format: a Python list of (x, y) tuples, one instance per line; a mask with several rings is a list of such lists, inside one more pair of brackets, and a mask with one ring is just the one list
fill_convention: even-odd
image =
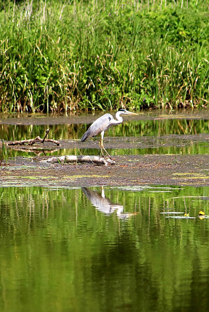
[(92, 156), (92, 155), (86, 155), (86, 156), (76, 156), (76, 155), (65, 155), (65, 156), (53, 156), (47, 159), (42, 160), (42, 162), (45, 163), (97, 163), (100, 165), (114, 165), (115, 161), (104, 157), (99, 156)]

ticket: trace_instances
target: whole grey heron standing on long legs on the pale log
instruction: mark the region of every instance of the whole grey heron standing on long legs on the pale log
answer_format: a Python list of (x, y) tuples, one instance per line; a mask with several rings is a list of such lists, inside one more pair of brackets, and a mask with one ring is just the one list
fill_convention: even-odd
[[(115, 119), (110, 114), (104, 114), (103, 116), (96, 119), (93, 122), (93, 124), (90, 125), (88, 130), (83, 134), (81, 138), (81, 142), (87, 141), (91, 137), (94, 137), (97, 134), (101, 133), (99, 146), (100, 146), (101, 152), (102, 152), (102, 149), (104, 149), (104, 151), (107, 153), (103, 145), (104, 132), (107, 131), (111, 126), (121, 124), (123, 122), (123, 119), (120, 115), (138, 115), (138, 114), (129, 112), (128, 110), (124, 110), (124, 109), (118, 110), (116, 112)], [(108, 153), (107, 155), (109, 156), (109, 158), (111, 158), (111, 156)], [(103, 152), (102, 152), (102, 156), (104, 157)]]

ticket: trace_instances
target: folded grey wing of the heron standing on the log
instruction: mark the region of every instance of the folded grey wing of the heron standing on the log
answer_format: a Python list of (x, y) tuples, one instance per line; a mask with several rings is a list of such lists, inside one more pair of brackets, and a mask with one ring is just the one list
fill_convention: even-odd
[(88, 130), (83, 134), (81, 142), (88, 140), (89, 138), (100, 134), (102, 131), (106, 131), (111, 126), (112, 115), (105, 114), (96, 119), (93, 124), (90, 125)]

